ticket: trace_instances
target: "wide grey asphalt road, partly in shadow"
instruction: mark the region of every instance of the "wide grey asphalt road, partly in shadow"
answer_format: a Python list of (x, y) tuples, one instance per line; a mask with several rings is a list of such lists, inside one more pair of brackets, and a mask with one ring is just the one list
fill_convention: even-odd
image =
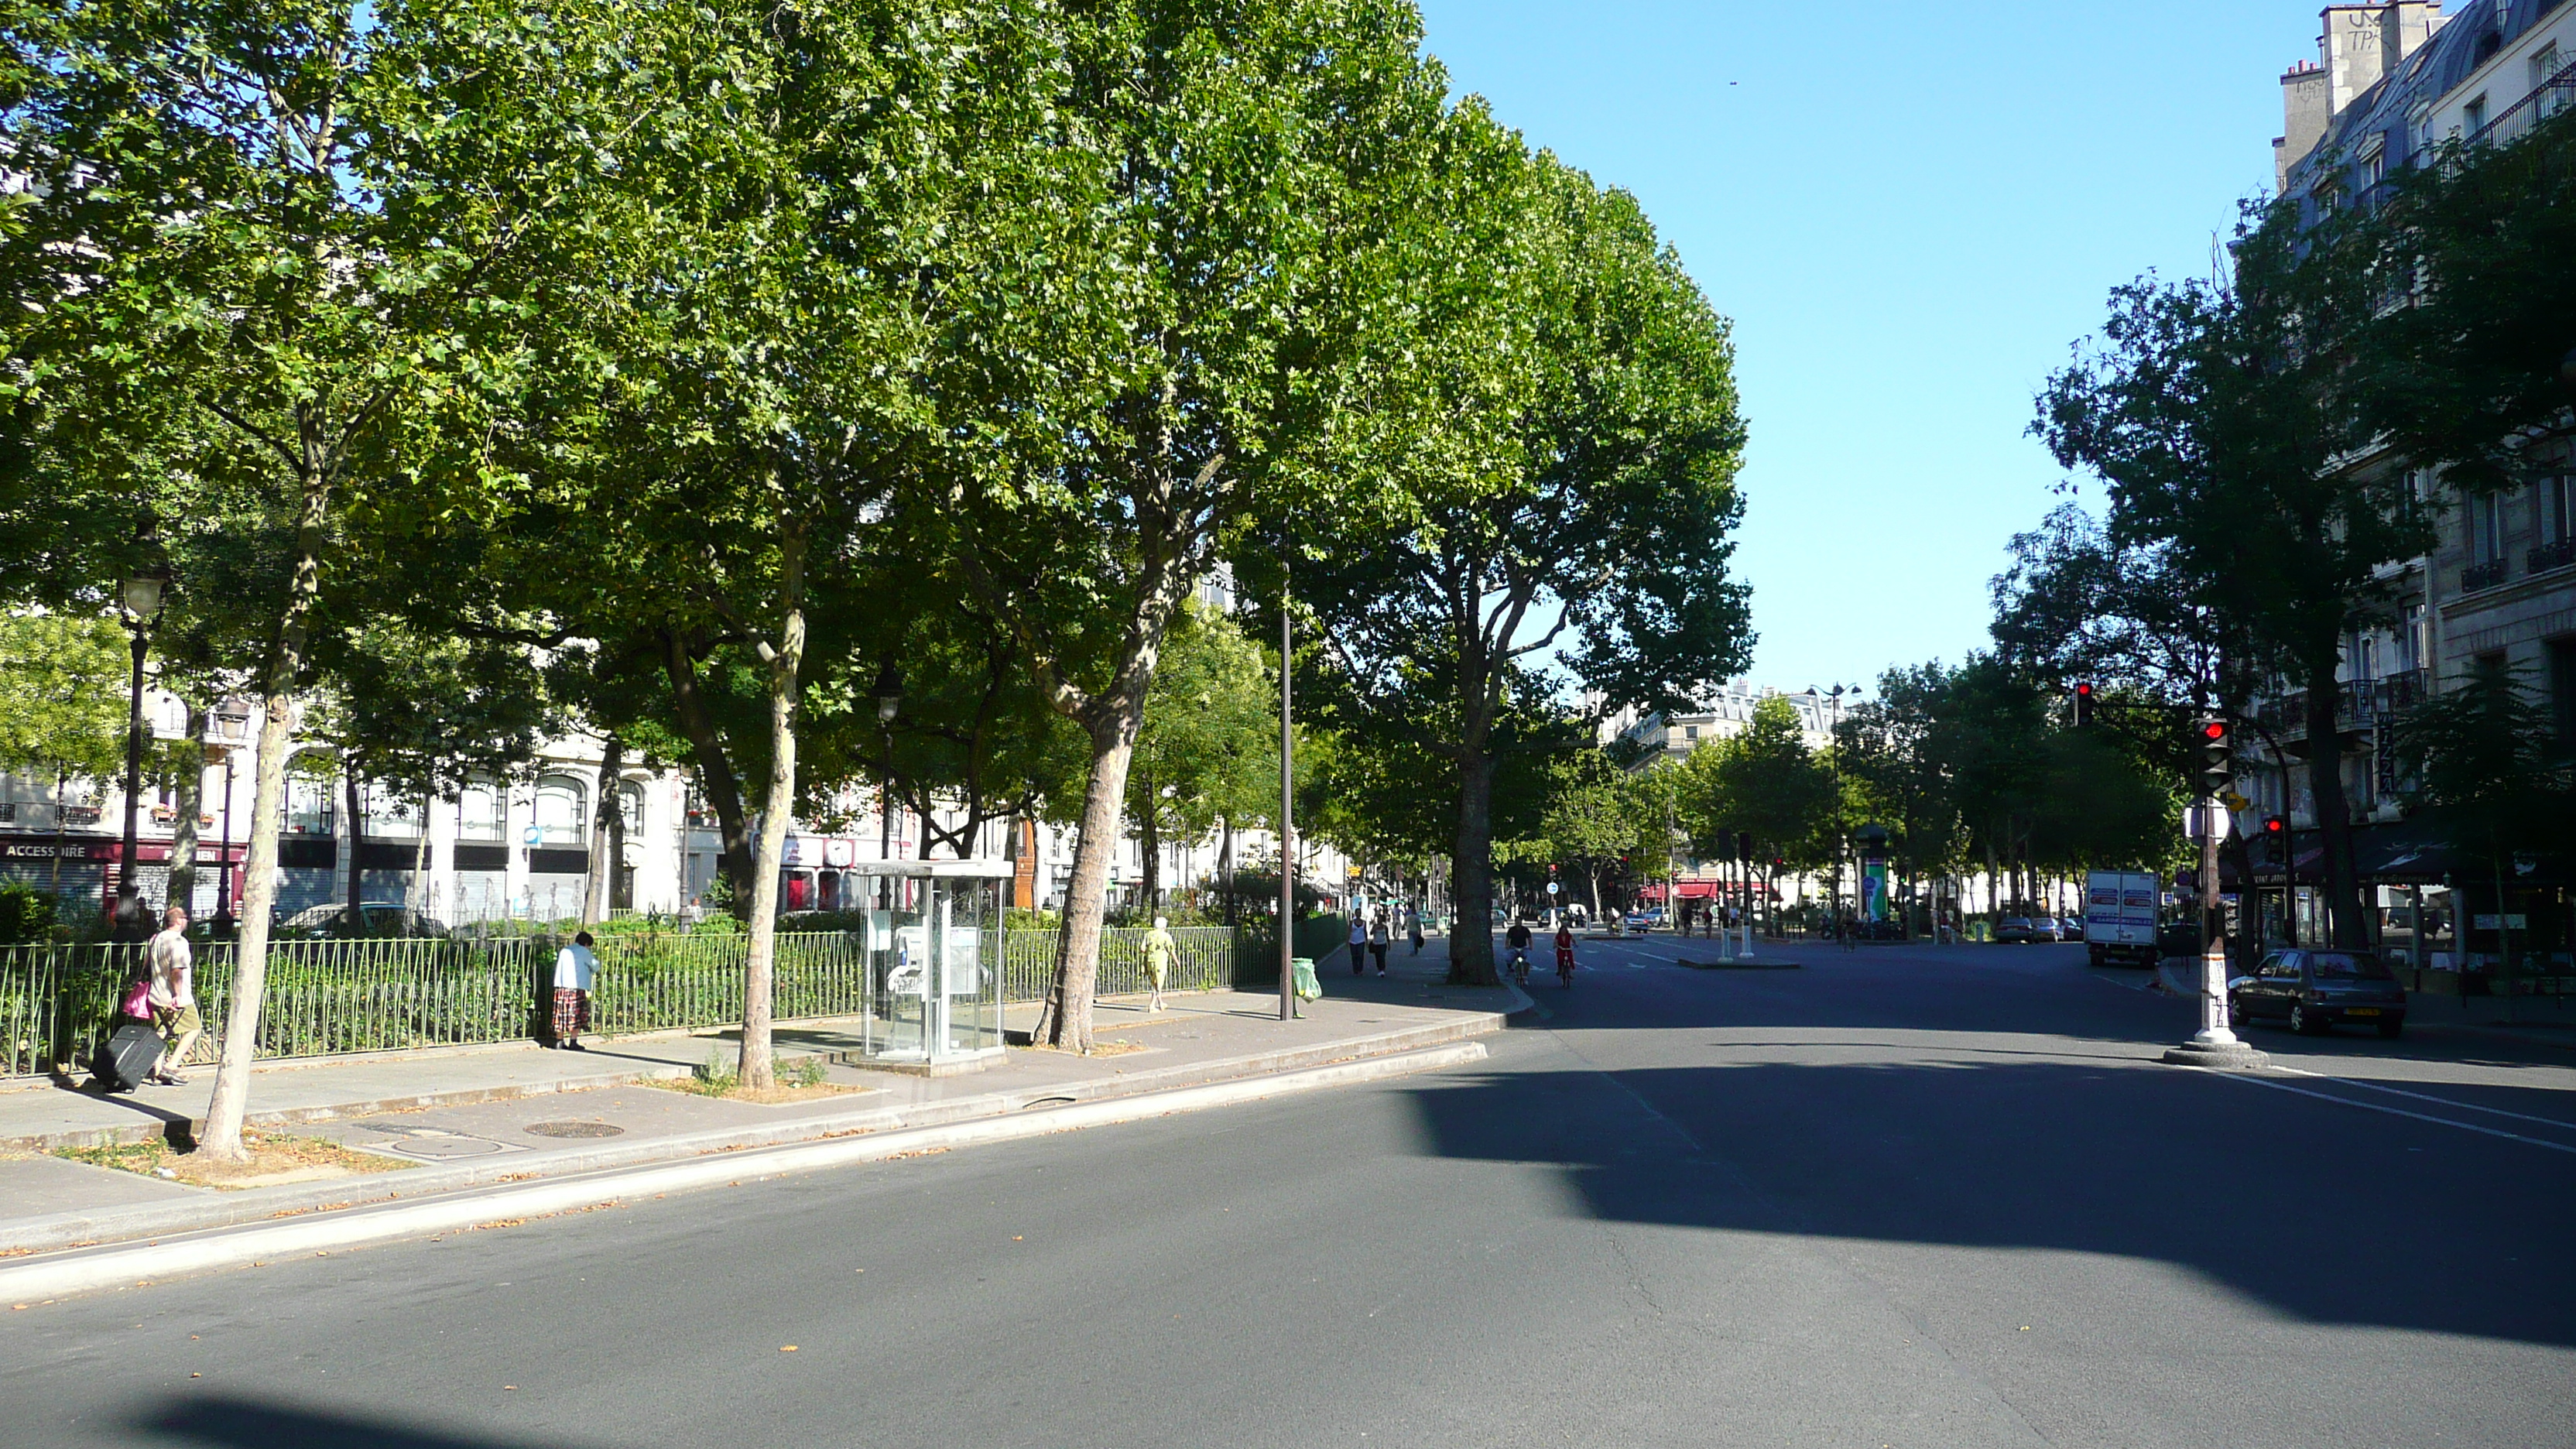
[(0, 1444), (2576, 1444), (2576, 1052), (1677, 954), (1473, 1070), (0, 1312)]

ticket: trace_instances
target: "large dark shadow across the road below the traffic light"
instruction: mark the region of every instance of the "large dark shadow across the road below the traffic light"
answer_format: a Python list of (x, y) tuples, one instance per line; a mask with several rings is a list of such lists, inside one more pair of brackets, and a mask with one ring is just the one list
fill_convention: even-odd
[(1558, 1163), (1613, 1222), (2107, 1253), (2311, 1323), (2576, 1346), (2576, 1253), (2553, 1227), (2576, 1155), (2208, 1073), (1757, 1060), (1504, 1073), (1414, 1104), (1437, 1155)]

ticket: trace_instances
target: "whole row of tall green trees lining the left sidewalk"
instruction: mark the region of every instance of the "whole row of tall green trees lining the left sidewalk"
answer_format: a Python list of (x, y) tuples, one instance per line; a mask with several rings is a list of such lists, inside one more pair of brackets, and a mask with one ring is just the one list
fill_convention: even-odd
[(1041, 1034), (1090, 1044), (1121, 817), (1265, 817), (1262, 655), (1188, 614), (1221, 562), (1347, 755), (1437, 761), (1406, 807), (1473, 913), (1564, 676), (1680, 704), (1741, 657), (1723, 320), (1401, 0), (0, 26), (5, 603), (167, 572), (162, 678), (263, 704), (214, 1155), (299, 740), (407, 794), (564, 719), (685, 761), (757, 1085), (788, 820), (873, 779), (1079, 822)]

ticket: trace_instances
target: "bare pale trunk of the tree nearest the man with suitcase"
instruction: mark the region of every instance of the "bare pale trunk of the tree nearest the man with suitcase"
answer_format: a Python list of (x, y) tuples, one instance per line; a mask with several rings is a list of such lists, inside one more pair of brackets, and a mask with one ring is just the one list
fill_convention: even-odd
[(260, 1044), (260, 1006), (268, 987), (268, 915), (278, 902), (278, 825), (286, 812), (286, 753), (296, 743), (294, 688), (304, 673), (304, 629), (322, 593), (322, 523), (330, 485), (304, 477), (296, 518), (296, 575), (278, 621), (278, 650), (268, 660), (260, 701), (260, 748), (250, 789), (250, 851), (242, 859), (242, 931), (234, 946), (232, 993), (224, 1006), (224, 1057), (206, 1101), (206, 1134), (196, 1150), (216, 1163), (240, 1163), (242, 1116), (250, 1111), (250, 1060)]

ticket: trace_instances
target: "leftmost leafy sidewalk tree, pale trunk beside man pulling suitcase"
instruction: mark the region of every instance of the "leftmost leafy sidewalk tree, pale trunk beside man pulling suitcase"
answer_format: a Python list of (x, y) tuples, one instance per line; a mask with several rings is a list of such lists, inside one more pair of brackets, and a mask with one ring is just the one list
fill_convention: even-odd
[[(193, 443), (291, 518), (268, 657), (245, 931), (201, 1150), (242, 1158), (276, 820), (322, 565), (389, 472), (397, 413), (477, 415), (505, 369), (461, 320), (505, 255), (515, 186), (425, 183), (430, 150), (515, 111), (435, 101), (438, 5), (21, 5), (0, 229), (21, 309), (8, 402), (33, 433)], [(528, 28), (489, 15), (492, 34)], [(165, 420), (173, 407), (185, 418)], [(95, 472), (95, 464), (93, 464)], [(404, 508), (435, 508), (415, 490)]]

